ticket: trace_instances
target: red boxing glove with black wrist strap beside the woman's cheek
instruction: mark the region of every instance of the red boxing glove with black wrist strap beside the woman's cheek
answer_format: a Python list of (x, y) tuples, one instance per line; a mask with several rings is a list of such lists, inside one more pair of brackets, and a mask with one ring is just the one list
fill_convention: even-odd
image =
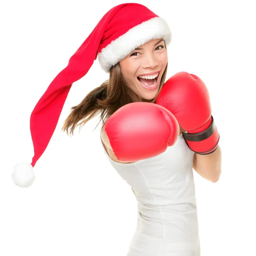
[(189, 148), (210, 154), (218, 147), (219, 134), (211, 115), (209, 93), (204, 82), (193, 74), (176, 73), (161, 89), (156, 103), (171, 111)]

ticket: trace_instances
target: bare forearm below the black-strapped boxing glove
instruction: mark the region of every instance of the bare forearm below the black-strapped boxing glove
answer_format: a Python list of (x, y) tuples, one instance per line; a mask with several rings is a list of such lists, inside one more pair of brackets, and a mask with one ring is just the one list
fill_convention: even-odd
[(203, 178), (215, 183), (221, 175), (221, 148), (207, 155), (195, 154), (195, 171)]

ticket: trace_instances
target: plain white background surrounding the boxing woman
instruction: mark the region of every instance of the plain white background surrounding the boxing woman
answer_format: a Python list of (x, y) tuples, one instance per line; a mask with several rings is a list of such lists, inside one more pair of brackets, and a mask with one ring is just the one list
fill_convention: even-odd
[[(179, 71), (209, 89), (221, 136), (217, 183), (194, 172), (202, 256), (256, 255), (255, 11), (253, 1), (149, 1), (172, 30), (167, 78)], [(31, 163), (35, 104), (101, 17), (121, 1), (5, 1), (0, 6), (0, 255), (125, 256), (137, 223), (131, 188), (108, 162), (98, 119), (67, 137), (70, 108), (108, 79), (96, 60), (73, 84), (28, 189), (12, 167)], [(168, 7), (166, 4), (168, 3)], [(138, 13), (138, 15), (140, 15)], [(254, 17), (253, 17), (254, 16)]]

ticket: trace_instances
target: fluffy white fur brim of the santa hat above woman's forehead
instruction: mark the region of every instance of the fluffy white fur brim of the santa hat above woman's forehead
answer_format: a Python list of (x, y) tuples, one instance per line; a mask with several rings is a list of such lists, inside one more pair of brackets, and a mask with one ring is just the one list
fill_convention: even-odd
[(165, 20), (160, 17), (154, 17), (131, 28), (124, 35), (121, 35), (102, 49), (98, 55), (99, 64), (108, 73), (112, 66), (125, 58), (134, 49), (158, 38), (163, 38), (167, 46), (172, 40), (172, 33)]

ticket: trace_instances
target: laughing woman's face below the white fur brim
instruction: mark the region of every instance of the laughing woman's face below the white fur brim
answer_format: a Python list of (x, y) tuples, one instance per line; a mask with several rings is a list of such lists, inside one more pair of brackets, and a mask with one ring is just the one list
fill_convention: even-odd
[(168, 61), (162, 39), (154, 39), (119, 61), (126, 84), (139, 99), (154, 99)]

